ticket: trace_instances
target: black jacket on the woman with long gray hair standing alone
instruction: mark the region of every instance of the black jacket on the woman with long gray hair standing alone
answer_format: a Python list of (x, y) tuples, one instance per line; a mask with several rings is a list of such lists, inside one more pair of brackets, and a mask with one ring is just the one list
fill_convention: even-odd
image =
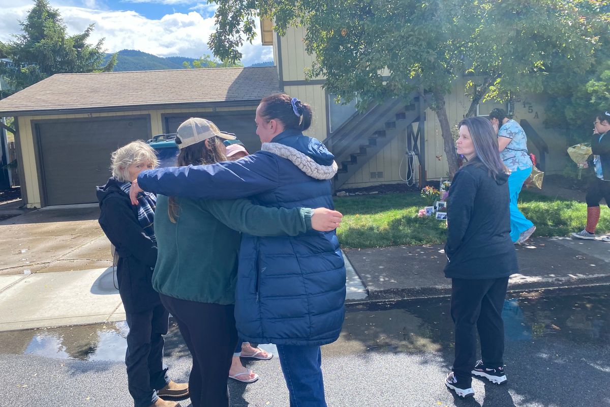
[(494, 180), (481, 162), (454, 176), (447, 200), (447, 278), (491, 279), (517, 273), (508, 175)]

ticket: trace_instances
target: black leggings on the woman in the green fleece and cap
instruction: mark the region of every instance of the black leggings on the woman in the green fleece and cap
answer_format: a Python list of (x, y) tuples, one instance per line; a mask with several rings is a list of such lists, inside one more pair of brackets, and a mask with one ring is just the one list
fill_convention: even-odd
[(237, 343), (235, 306), (160, 297), (178, 322), (193, 358), (188, 378), (193, 407), (228, 407), (227, 380)]

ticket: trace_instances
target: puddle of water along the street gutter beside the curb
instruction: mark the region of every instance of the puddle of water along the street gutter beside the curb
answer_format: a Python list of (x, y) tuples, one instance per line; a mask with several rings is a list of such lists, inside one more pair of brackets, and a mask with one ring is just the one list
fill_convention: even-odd
[[(507, 341), (569, 340), (606, 345), (610, 339), (610, 293), (510, 298), (504, 303)], [(129, 328), (125, 322), (0, 333), (0, 353), (84, 361), (123, 361)], [(336, 353), (437, 351), (451, 347), (453, 323), (448, 298), (351, 305)], [(265, 350), (274, 352), (273, 345)], [(170, 321), (166, 355), (188, 355)]]

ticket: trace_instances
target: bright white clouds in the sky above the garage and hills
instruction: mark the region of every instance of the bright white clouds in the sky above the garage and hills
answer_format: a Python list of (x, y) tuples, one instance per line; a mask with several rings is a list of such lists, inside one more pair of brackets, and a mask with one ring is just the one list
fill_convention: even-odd
[[(5, 1), (7, 0), (0, 0), (0, 4)], [(30, 1), (24, 0), (15, 0), (10, 6), (4, 7), (5, 12), (0, 19), (0, 41), (9, 40), (10, 34), (19, 32), (18, 20), (23, 20), (31, 7)], [(151, 20), (129, 10), (88, 9), (59, 4), (52, 4), (52, 7), (60, 10), (71, 34), (82, 32), (90, 23), (95, 23), (90, 42), (106, 38), (104, 48), (108, 52), (138, 49), (161, 57), (192, 58), (212, 54), (207, 41), (214, 31), (214, 19), (212, 16), (205, 18), (195, 11), (171, 13), (159, 20)], [(254, 44), (243, 45), (240, 51), (246, 66), (273, 60), (273, 49), (260, 45), (260, 37), (256, 38)]]

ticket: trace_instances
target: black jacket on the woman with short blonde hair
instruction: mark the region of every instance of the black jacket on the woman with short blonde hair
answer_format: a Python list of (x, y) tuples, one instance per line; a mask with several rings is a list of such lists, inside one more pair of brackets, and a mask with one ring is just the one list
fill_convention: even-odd
[(160, 304), (159, 293), (152, 289), (157, 245), (146, 236), (138, 222), (137, 206), (119, 185), (110, 178), (106, 185), (97, 187), (99, 225), (120, 256), (117, 279), (125, 312), (148, 311)]

